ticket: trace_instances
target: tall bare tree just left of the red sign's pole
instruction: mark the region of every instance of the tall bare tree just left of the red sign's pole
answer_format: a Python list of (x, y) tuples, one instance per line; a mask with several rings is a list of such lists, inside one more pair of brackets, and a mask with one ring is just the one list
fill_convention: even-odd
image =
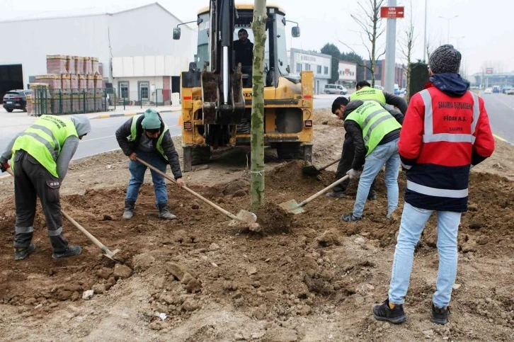
[[(370, 70), (371, 86), (375, 86), (375, 65), (377, 65), (377, 60), (385, 55), (385, 49), (382, 53), (377, 55), (377, 50), (382, 49), (382, 47), (377, 48), (377, 41), (385, 32), (385, 29), (382, 28), (382, 18), (380, 17), (380, 8), (384, 6), (385, 2), (386, 0), (359, 0), (358, 4), (360, 6), (360, 13), (351, 15), (355, 23), (358, 23), (361, 28), (358, 33), (360, 35), (360, 40), (362, 40), (362, 45), (366, 47), (367, 55), (369, 57), (368, 60), (370, 61), (369, 67), (367, 66), (367, 63), (364, 63), (364, 65), (360, 63), (358, 64), (361, 67), (365, 67)], [(339, 40), (339, 42), (355, 52), (353, 47), (347, 43), (342, 42), (341, 40)]]

